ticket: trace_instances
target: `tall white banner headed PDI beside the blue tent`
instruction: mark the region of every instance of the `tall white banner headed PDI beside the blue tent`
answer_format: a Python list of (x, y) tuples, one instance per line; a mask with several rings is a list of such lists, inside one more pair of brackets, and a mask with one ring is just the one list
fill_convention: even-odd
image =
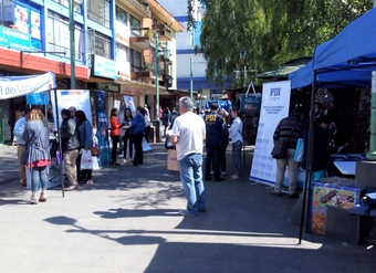
[(275, 159), (270, 155), (274, 143), (273, 134), (280, 120), (289, 116), (291, 81), (264, 83), (262, 102), (255, 139), (250, 180), (275, 183)]

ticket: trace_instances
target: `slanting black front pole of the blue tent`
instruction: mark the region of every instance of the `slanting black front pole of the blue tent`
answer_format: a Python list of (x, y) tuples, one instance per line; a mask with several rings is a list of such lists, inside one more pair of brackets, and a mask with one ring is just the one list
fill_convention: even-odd
[[(310, 127), (309, 127), (309, 145), (306, 153), (306, 168), (305, 168), (305, 179), (303, 183), (303, 204), (302, 204), (302, 213), (301, 213), (301, 224), (299, 231), (299, 244), (302, 243), (303, 237), (303, 224), (304, 224), (304, 212), (305, 212), (305, 202), (306, 197), (311, 196), (311, 181), (312, 181), (312, 154), (313, 154), (313, 138), (314, 138), (314, 111), (315, 111), (315, 94), (316, 94), (316, 74), (318, 71), (313, 72), (313, 83), (312, 83), (312, 92), (311, 92), (311, 108), (310, 108)], [(309, 193), (309, 195), (306, 195)], [(307, 209), (310, 206), (307, 206)], [(309, 213), (306, 213), (309, 217)], [(309, 221), (306, 224), (306, 231), (309, 229)]]

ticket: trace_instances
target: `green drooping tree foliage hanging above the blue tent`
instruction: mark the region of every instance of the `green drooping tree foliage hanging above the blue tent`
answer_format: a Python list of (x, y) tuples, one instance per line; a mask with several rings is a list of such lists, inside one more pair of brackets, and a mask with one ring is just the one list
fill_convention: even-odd
[(373, 0), (199, 1), (207, 11), (199, 51), (207, 61), (208, 82), (218, 86), (244, 66), (261, 73), (312, 55), (316, 45), (373, 7)]

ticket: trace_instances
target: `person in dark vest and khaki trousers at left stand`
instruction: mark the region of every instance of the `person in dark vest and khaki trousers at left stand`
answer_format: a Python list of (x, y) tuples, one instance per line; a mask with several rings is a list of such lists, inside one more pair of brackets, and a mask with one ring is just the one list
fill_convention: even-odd
[(69, 109), (61, 111), (63, 119), (60, 128), (62, 140), (62, 153), (64, 155), (64, 168), (70, 185), (64, 188), (65, 191), (77, 189), (77, 166), (76, 160), (79, 157), (80, 137), (79, 128), (75, 119), (71, 117)]

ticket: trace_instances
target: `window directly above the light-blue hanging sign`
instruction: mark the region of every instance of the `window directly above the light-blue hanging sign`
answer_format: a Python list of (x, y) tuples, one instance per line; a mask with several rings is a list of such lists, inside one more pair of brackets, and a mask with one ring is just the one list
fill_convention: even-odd
[(87, 30), (88, 53), (111, 59), (111, 39), (106, 35)]

